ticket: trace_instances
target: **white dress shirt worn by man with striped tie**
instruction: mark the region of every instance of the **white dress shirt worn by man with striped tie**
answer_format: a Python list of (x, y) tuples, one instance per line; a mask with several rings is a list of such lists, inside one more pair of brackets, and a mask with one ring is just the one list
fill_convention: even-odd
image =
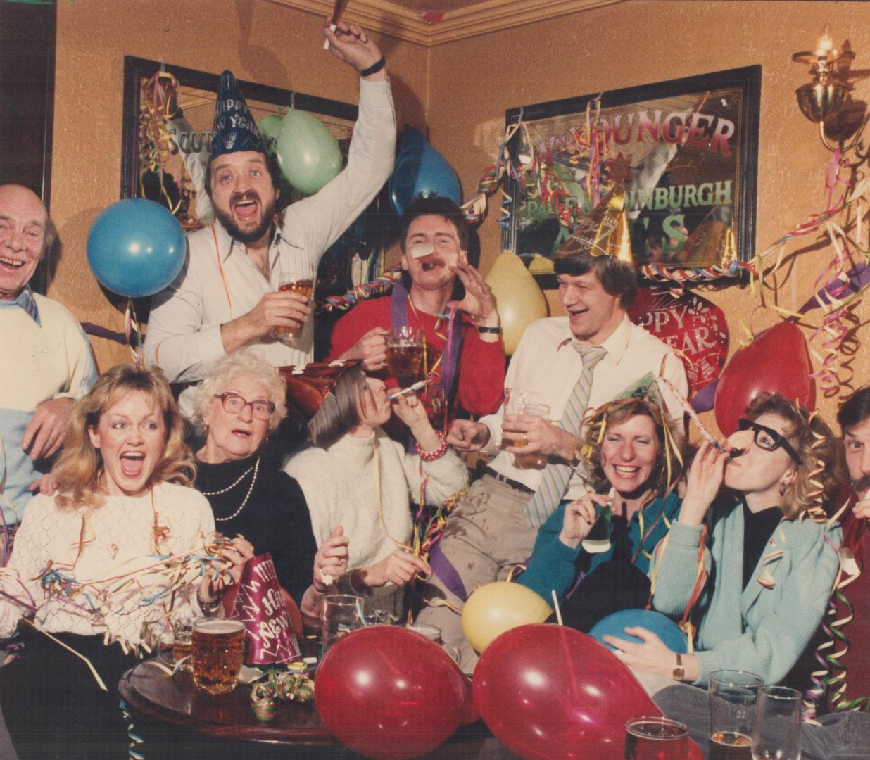
[[(583, 370), (583, 360), (573, 349), (571, 341), (568, 317), (547, 317), (533, 322), (526, 328), (505, 375), (505, 388), (537, 391), (535, 401), (549, 405), (552, 421), (561, 419)], [(601, 346), (607, 353), (592, 376), (589, 408), (596, 409), (602, 403), (623, 397), (624, 391), (647, 373), (652, 373), (653, 377), (666, 377), (686, 396), (686, 370), (679, 357), (666, 343), (633, 324), (627, 316)], [(678, 421), (679, 430), (683, 430), (683, 410), (679, 402), (666, 388), (659, 386), (659, 391), (668, 416)], [(537, 490), (543, 468), (517, 467), (512, 454), (499, 450), (504, 414), (505, 406), (502, 404), (495, 414), (480, 418), (491, 435), (481, 454), (495, 457), (490, 465), (493, 470)], [(579, 498), (586, 490), (581, 472), (575, 470), (564, 498)]]

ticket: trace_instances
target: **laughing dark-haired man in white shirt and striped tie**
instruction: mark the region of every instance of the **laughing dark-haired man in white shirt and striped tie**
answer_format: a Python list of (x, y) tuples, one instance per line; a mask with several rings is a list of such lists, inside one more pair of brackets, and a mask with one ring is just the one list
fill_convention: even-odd
[[(624, 395), (649, 375), (666, 377), (684, 397), (687, 392), (679, 357), (628, 318), (637, 289), (632, 263), (560, 252), (555, 269), (567, 315), (529, 325), (505, 376), (505, 389), (535, 391), (535, 401), (550, 407), (549, 416), (505, 415), (502, 406), (479, 422), (457, 420), (448, 436), (456, 449), (479, 451), (492, 461), (432, 550), (433, 576), (423, 593), (434, 606), (425, 607), (418, 622), (437, 626), (445, 641), (460, 644), (466, 672), (477, 656), (462, 635), (459, 615), (439, 600), (461, 609), (478, 586), (505, 580), (532, 555), (539, 527), (559, 503), (586, 492), (579, 451), (584, 410)], [(669, 416), (680, 420), (678, 400), (662, 396)], [(525, 445), (502, 448), (502, 437), (511, 433), (525, 436)], [(539, 463), (518, 465), (517, 455), (537, 455)]]

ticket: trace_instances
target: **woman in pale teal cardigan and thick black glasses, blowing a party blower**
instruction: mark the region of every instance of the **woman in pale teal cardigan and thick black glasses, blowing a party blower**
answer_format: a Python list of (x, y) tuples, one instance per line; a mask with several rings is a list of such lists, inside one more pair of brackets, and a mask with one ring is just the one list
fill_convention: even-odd
[[(679, 663), (640, 628), (626, 633), (643, 643), (607, 643), (636, 670), (699, 685), (722, 668), (782, 680), (820, 623), (839, 565), (840, 528), (819, 506), (837, 472), (827, 424), (759, 394), (724, 446), (701, 446), (679, 518), (653, 558), (656, 610), (679, 617), (698, 597), (696, 651)], [(723, 483), (733, 495), (719, 495)]]

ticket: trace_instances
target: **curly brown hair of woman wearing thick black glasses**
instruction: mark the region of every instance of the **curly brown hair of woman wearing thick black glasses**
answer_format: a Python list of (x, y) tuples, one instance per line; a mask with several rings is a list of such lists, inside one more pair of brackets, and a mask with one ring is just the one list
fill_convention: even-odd
[[(759, 393), (746, 409), (746, 417), (751, 420), (758, 419), (763, 414), (775, 414), (786, 421), (783, 436), (788, 438), (788, 442), (800, 457), (800, 465), (794, 465), (797, 468), (797, 477), (783, 494), (783, 503), (780, 506), (786, 519), (793, 520), (818, 503), (833, 497), (837, 490), (842, 480), (837, 440), (833, 430), (821, 417), (810, 414), (779, 393)], [(811, 477), (820, 484), (820, 493), (818, 486), (810, 482)]]

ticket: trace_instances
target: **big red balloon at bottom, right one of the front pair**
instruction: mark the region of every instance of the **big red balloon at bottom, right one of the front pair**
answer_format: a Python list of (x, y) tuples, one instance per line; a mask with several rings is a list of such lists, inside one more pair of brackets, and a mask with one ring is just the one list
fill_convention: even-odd
[(474, 703), (525, 760), (623, 760), (626, 720), (661, 715), (610, 650), (552, 623), (521, 625), (487, 647)]

